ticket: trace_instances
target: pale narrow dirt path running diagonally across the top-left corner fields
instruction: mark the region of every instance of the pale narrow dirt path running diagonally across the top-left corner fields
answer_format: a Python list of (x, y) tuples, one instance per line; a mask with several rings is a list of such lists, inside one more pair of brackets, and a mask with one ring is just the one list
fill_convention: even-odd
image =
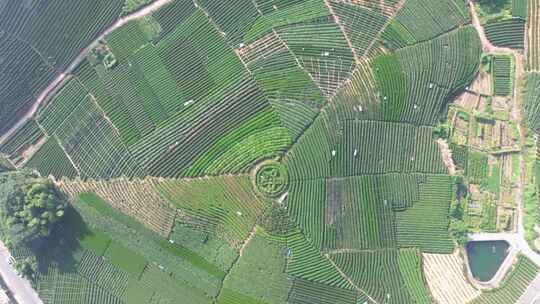
[(2, 134), (0, 137), (0, 145), (4, 144), (4, 142), (17, 130), (19, 130), (30, 118), (32, 118), (39, 106), (51, 95), (52, 92), (54, 92), (58, 87), (61, 86), (61, 84), (66, 79), (67, 75), (73, 72), (75, 68), (83, 62), (83, 60), (86, 58), (86, 55), (92, 50), (94, 47), (97, 46), (100, 40), (105, 38), (105, 36), (112, 33), (115, 29), (121, 27), (122, 25), (136, 20), (140, 18), (144, 18), (147, 15), (152, 14), (153, 12), (159, 10), (163, 6), (171, 3), (173, 0), (156, 0), (150, 4), (148, 4), (145, 7), (142, 7), (141, 9), (126, 15), (124, 17), (120, 17), (120, 19), (116, 20), (111, 26), (109, 26), (107, 29), (105, 29), (94, 41), (92, 41), (86, 48), (84, 48), (81, 52), (79, 52), (79, 55), (75, 57), (75, 60), (62, 72), (60, 73), (46, 88), (39, 94), (39, 96), (36, 98), (36, 100), (33, 102), (32, 107), (28, 112), (6, 133)]

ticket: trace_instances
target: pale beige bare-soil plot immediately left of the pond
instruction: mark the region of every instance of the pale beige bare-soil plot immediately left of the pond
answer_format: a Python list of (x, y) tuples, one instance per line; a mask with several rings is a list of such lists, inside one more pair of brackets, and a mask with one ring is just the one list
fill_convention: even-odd
[(423, 270), (433, 298), (441, 304), (469, 303), (480, 295), (463, 272), (464, 261), (453, 254), (423, 253)]

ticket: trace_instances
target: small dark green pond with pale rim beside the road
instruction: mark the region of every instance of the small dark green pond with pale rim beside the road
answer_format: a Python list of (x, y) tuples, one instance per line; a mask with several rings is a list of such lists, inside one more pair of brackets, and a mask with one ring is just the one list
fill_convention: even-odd
[(468, 242), (465, 250), (473, 277), (480, 282), (491, 280), (508, 255), (509, 247), (505, 241)]

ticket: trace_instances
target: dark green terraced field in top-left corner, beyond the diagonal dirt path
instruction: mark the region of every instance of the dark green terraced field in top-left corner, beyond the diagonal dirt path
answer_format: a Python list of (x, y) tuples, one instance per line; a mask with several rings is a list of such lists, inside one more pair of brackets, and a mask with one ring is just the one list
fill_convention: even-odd
[(0, 8), (0, 79), (5, 132), (31, 107), (58, 70), (67, 67), (120, 14), (123, 1), (8, 1)]

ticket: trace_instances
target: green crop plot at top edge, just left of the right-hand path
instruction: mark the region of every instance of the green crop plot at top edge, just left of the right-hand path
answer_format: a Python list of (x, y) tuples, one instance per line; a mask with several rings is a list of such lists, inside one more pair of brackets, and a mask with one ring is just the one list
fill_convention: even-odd
[(470, 23), (465, 1), (409, 0), (382, 34), (391, 49), (426, 41)]

